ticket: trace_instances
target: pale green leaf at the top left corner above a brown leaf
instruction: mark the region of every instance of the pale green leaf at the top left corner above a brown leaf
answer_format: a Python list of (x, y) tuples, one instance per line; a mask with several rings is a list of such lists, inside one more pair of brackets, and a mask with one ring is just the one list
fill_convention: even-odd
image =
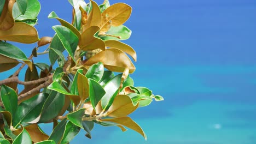
[[(20, 0), (25, 2), (26, 0)], [(25, 4), (24, 4), (25, 5)], [(40, 3), (38, 0), (29, 0), (27, 1), (27, 7), (25, 13), (22, 14), (21, 10), (18, 8), (18, 3), (13, 5), (13, 18), (14, 20), (27, 20), (27, 19), (36, 19), (40, 11)]]

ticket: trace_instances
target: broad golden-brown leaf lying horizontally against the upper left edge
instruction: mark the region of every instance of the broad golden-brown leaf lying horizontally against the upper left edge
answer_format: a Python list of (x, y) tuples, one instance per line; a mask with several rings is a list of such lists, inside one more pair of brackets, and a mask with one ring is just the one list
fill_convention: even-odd
[(39, 40), (36, 28), (24, 22), (16, 22), (7, 31), (0, 31), (0, 39), (24, 44), (32, 44)]

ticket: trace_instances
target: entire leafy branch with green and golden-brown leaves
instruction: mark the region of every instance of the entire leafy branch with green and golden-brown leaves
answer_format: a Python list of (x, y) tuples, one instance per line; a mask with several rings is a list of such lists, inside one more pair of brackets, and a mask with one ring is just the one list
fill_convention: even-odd
[[(80, 130), (91, 139), (94, 124), (117, 126), (122, 131), (130, 128), (147, 139), (127, 115), (163, 98), (146, 87), (134, 86), (129, 75), (135, 71), (129, 56), (136, 61), (136, 52), (120, 40), (131, 35), (123, 24), (132, 8), (125, 3), (110, 5), (108, 0), (101, 5), (68, 1), (73, 7), (72, 22), (51, 12), (49, 19), (60, 25), (53, 26), (53, 37), (40, 39), (33, 27), (40, 11), (38, 0), (0, 3), (0, 72), (20, 65), (0, 81), (0, 142), (69, 143)], [(37, 42), (38, 46), (27, 57), (7, 41)], [(38, 52), (39, 47), (47, 48)], [(48, 55), (49, 63), (33, 61), (40, 55)], [(22, 81), (18, 75), (26, 65)], [(21, 92), (19, 85), (24, 86)], [(53, 123), (53, 132), (46, 135), (39, 123)]]

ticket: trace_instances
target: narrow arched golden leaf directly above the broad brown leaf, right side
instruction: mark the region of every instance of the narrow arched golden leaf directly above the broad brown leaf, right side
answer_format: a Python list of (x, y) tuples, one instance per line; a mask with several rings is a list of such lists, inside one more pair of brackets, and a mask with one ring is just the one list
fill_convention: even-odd
[(119, 50), (127, 53), (128, 55), (130, 55), (135, 62), (137, 61), (136, 52), (135, 52), (135, 50), (132, 49), (131, 46), (126, 45), (125, 43), (122, 43), (121, 41), (117, 41), (117, 40), (106, 40), (104, 42), (105, 42), (106, 47), (119, 49)]

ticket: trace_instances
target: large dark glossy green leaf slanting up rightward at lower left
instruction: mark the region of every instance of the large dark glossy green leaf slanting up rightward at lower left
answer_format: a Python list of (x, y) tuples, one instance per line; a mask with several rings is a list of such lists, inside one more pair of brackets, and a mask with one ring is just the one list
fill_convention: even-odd
[(18, 127), (19, 123), (25, 127), (29, 122), (38, 118), (48, 95), (48, 93), (39, 93), (31, 99), (23, 101), (18, 106), (13, 118), (14, 128)]

